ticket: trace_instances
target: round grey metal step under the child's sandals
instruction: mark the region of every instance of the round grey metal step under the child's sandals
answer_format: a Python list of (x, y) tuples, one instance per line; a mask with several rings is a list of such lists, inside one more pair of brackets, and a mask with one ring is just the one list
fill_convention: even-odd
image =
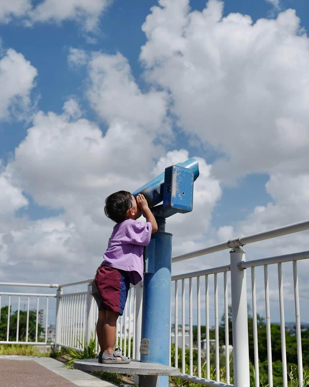
[(128, 364), (101, 364), (98, 363), (98, 359), (82, 359), (74, 361), (73, 366), (81, 371), (127, 373), (129, 375), (180, 375), (179, 368), (158, 363), (141, 363), (139, 360), (131, 360)]

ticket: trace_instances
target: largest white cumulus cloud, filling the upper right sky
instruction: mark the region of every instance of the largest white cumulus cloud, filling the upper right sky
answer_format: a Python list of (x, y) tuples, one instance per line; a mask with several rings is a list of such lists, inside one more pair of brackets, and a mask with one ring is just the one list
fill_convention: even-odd
[(160, 0), (142, 27), (145, 77), (170, 93), (178, 125), (221, 155), (219, 178), (307, 170), (309, 39), (295, 11), (253, 23), (218, 0), (188, 5)]

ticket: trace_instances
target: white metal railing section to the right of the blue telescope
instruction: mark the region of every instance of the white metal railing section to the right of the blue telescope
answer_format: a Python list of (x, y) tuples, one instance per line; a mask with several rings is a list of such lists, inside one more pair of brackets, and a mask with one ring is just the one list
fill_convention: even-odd
[[(303, 231), (309, 228), (309, 221), (299, 222), (295, 224), (290, 224), (288, 226), (283, 226), (277, 229), (272, 229), (269, 231), (263, 231), (262, 233), (257, 233), (249, 236), (240, 236), (238, 238), (233, 238), (225, 243), (220, 243), (218, 245), (214, 245), (202, 250), (198, 250), (196, 252), (186, 253), (183, 255), (179, 255), (177, 257), (173, 257), (172, 262), (178, 262), (180, 260), (190, 259), (194, 257), (198, 257), (200, 255), (205, 255), (217, 251), (221, 251), (228, 248), (234, 248), (233, 250), (239, 249), (242, 250), (241, 247), (243, 247), (245, 244), (253, 243), (260, 240), (265, 240), (268, 238), (274, 238), (281, 235), (286, 235), (290, 233), (295, 233), (299, 231)], [(236, 249), (235, 249), (236, 248)], [(232, 250), (232, 251), (233, 251)], [(243, 342), (243, 336), (244, 332), (248, 332), (248, 327), (242, 326), (241, 327), (241, 320), (242, 322), (247, 321), (248, 316), (248, 310), (247, 305), (244, 305), (244, 300), (242, 302), (242, 307), (240, 307), (240, 303), (238, 304), (235, 301), (241, 300), (241, 293), (244, 294), (244, 292), (241, 292), (242, 289), (246, 289), (246, 276), (243, 276), (241, 280), (239, 281), (239, 273), (243, 271), (244, 269), (251, 267), (251, 294), (252, 294), (252, 309), (253, 309), (253, 339), (254, 339), (254, 357), (255, 357), (255, 385), (260, 385), (259, 380), (259, 364), (258, 364), (258, 330), (257, 330), (257, 318), (256, 318), (256, 283), (255, 283), (255, 267), (263, 265), (264, 266), (264, 284), (265, 284), (265, 315), (266, 315), (266, 327), (267, 327), (267, 353), (268, 353), (268, 383), (269, 386), (273, 386), (273, 378), (272, 378), (272, 348), (271, 348), (271, 325), (270, 325), (270, 301), (269, 301), (269, 283), (268, 283), (268, 265), (270, 264), (277, 264), (278, 265), (278, 292), (279, 292), (279, 307), (280, 307), (280, 331), (281, 331), (281, 348), (282, 348), (282, 378), (283, 378), (283, 385), (284, 387), (287, 386), (287, 360), (286, 360), (286, 348), (285, 348), (285, 320), (284, 320), (284, 293), (283, 293), (283, 276), (282, 276), (282, 263), (283, 262), (289, 262), (293, 261), (293, 277), (294, 277), (294, 304), (295, 304), (295, 324), (296, 324), (296, 337), (297, 337), (297, 361), (298, 361), (298, 382), (299, 385), (302, 385), (303, 381), (303, 370), (302, 370), (302, 349), (301, 349), (301, 324), (300, 324), (300, 307), (299, 307), (299, 290), (298, 290), (298, 276), (297, 276), (297, 260), (303, 260), (309, 258), (309, 252), (298, 252), (294, 254), (288, 254), (288, 255), (281, 255), (278, 257), (270, 257), (265, 259), (259, 259), (259, 260), (252, 260), (249, 262), (244, 262), (244, 250), (242, 250), (241, 254), (243, 254), (243, 261), (242, 259), (236, 260), (234, 263), (231, 260), (231, 264), (225, 267), (218, 267), (214, 269), (208, 269), (206, 271), (197, 271), (192, 272), (188, 274), (173, 276), (172, 279), (175, 280), (175, 295), (177, 294), (176, 291), (176, 283), (178, 279), (182, 279), (184, 281), (185, 278), (189, 278), (189, 281), (192, 279), (192, 277), (199, 277), (205, 275), (207, 277), (207, 274), (214, 274), (214, 313), (215, 313), (215, 364), (216, 364), (216, 381), (218, 381), (218, 374), (217, 374), (217, 366), (218, 363), (218, 352), (219, 352), (219, 343), (217, 341), (217, 274), (219, 272), (224, 272), (224, 320), (225, 320), (225, 340), (226, 340), (226, 365), (228, 364), (228, 356), (227, 356), (227, 348), (228, 348), (228, 334), (227, 334), (227, 326), (228, 326), (228, 316), (227, 316), (227, 272), (232, 270), (236, 275), (236, 279), (238, 278), (238, 281), (233, 281), (233, 277), (231, 278), (231, 293), (232, 293), (232, 314), (233, 309), (233, 292), (236, 294), (236, 300), (234, 300), (234, 304), (237, 305), (237, 314), (241, 315), (242, 318), (237, 321), (236, 313), (234, 312), (233, 315), (233, 358), (234, 358), (234, 383), (237, 386), (246, 386), (249, 385), (249, 358), (248, 356), (244, 356), (248, 353), (248, 340), (247, 342)], [(205, 283), (207, 283), (206, 289), (205, 289), (205, 306), (206, 310), (209, 310), (209, 289), (208, 289), (208, 281), (205, 279)], [(197, 283), (197, 286), (199, 288), (199, 283)], [(189, 305), (190, 305), (190, 296), (191, 292), (191, 286), (189, 284)], [(246, 292), (246, 291), (245, 291)], [(184, 290), (182, 291), (184, 293)], [(237, 294), (238, 293), (238, 294)], [(199, 291), (197, 292), (199, 294)], [(178, 305), (178, 296), (175, 296), (175, 308)], [(235, 298), (235, 296), (234, 296)], [(182, 301), (182, 304), (184, 304), (184, 301)], [(199, 296), (197, 296), (197, 321), (198, 321), (198, 331), (200, 329), (199, 325), (199, 316), (200, 316), (200, 301)], [(189, 310), (191, 313), (191, 308), (189, 307)], [(206, 312), (206, 348), (209, 348), (209, 336), (207, 335), (207, 331), (209, 330), (209, 313)], [(184, 308), (182, 308), (182, 315), (184, 318)], [(177, 316), (177, 317), (176, 317)], [(246, 316), (246, 317), (245, 317)], [(178, 320), (178, 312), (175, 310), (175, 326)], [(190, 321), (190, 317), (189, 317)], [(245, 329), (244, 329), (245, 328)], [(192, 336), (192, 329), (190, 324), (190, 337)], [(184, 338), (183, 329), (182, 329), (182, 339)], [(176, 336), (175, 336), (175, 340)], [(192, 375), (192, 366), (191, 366), (191, 339), (189, 344), (189, 350), (190, 350), (190, 375), (180, 375), (181, 378), (185, 378), (187, 380), (195, 381), (197, 383), (202, 383), (205, 385), (214, 385), (214, 381), (209, 381), (206, 379), (200, 379), (199, 380)], [(236, 350), (236, 346), (239, 348)], [(184, 347), (184, 342), (182, 342), (182, 349)], [(175, 352), (177, 352), (178, 349), (175, 349)], [(198, 376), (200, 375), (200, 366), (199, 366), (199, 357), (200, 357), (200, 349), (199, 345), (197, 348), (198, 351)], [(237, 352), (237, 353), (236, 353)], [(178, 354), (177, 354), (178, 355)], [(208, 351), (206, 354), (207, 357), (207, 378), (209, 377), (209, 356)], [(175, 366), (177, 365), (177, 356), (175, 354)], [(239, 358), (242, 358), (242, 361), (238, 361), (238, 364), (236, 364), (236, 359), (239, 360)], [(184, 369), (184, 361), (182, 361), (182, 372)], [(246, 375), (246, 377), (244, 376)], [(229, 369), (228, 366), (226, 368), (226, 383), (229, 383)], [(220, 385), (220, 384), (216, 384)], [(222, 384), (226, 385), (226, 384)]]

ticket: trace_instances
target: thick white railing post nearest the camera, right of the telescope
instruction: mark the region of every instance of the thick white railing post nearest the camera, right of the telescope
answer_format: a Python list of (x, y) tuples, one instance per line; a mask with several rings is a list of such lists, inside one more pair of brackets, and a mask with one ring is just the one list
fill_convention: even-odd
[(230, 259), (234, 385), (248, 387), (250, 386), (250, 368), (246, 271), (241, 270), (238, 265), (239, 262), (245, 260), (244, 250), (234, 247), (230, 251)]

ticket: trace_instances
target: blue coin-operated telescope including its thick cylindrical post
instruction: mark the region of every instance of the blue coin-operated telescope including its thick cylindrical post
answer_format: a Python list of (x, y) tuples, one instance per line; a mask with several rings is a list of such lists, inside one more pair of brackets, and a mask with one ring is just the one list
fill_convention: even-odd
[[(158, 224), (144, 252), (141, 362), (169, 364), (172, 234), (165, 232), (165, 219), (177, 212), (192, 211), (193, 185), (198, 176), (199, 163), (189, 159), (165, 168), (133, 192), (133, 196), (144, 195)], [(139, 386), (168, 387), (168, 376), (139, 375)]]

